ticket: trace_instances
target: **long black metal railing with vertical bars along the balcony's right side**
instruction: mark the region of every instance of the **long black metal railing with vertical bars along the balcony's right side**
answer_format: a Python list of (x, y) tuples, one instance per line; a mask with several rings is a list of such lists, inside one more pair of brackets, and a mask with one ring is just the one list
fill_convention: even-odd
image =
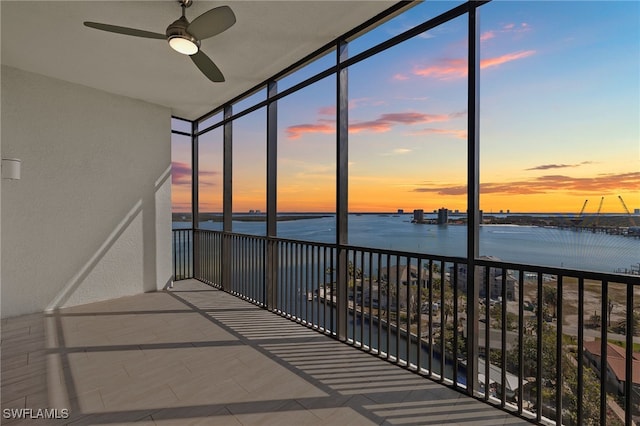
[[(193, 238), (195, 278), (520, 417), (631, 425), (640, 414), (640, 276), (218, 231)], [(471, 362), (478, 377), (467, 383)]]

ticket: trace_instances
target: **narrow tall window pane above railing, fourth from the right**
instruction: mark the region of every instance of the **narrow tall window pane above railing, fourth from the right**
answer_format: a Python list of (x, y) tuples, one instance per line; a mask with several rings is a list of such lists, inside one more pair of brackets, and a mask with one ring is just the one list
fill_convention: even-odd
[(233, 231), (266, 235), (266, 108), (233, 121)]

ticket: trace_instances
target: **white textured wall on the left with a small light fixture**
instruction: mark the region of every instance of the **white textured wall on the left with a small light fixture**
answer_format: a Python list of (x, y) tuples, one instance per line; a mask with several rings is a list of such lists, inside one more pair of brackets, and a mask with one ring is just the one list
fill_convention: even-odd
[(171, 279), (167, 108), (2, 67), (2, 317)]

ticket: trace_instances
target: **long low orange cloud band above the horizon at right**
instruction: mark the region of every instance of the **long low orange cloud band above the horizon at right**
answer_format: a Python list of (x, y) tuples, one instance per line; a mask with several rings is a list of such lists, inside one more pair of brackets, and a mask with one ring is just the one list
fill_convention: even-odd
[[(594, 193), (596, 195), (614, 191), (635, 191), (640, 187), (640, 172), (604, 174), (588, 178), (563, 175), (546, 175), (526, 181), (490, 182), (480, 185), (481, 194), (528, 195), (551, 192)], [(430, 192), (439, 195), (462, 195), (466, 185), (427, 185), (414, 192)]]

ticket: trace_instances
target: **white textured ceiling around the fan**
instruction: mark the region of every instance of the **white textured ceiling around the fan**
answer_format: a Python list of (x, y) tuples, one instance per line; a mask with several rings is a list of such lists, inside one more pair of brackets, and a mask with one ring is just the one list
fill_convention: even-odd
[(396, 3), (385, 1), (205, 1), (193, 20), (228, 5), (237, 22), (202, 42), (226, 82), (212, 83), (163, 40), (85, 27), (95, 21), (164, 33), (176, 1), (2, 1), (2, 63), (170, 107), (194, 119), (265, 81)]

